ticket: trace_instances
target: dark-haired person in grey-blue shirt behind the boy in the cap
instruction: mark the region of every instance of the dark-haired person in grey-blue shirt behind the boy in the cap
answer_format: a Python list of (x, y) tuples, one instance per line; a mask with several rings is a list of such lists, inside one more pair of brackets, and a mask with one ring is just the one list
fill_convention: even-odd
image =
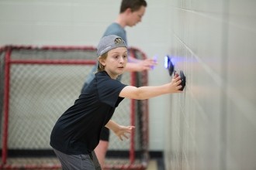
[[(126, 37), (126, 26), (133, 27), (136, 26), (137, 23), (142, 21), (144, 13), (146, 12), (147, 2), (145, 0), (123, 0), (121, 2), (119, 8), (119, 15), (117, 16), (116, 20), (112, 22), (104, 32), (103, 36), (109, 35), (116, 35), (121, 37), (124, 42), (127, 42)], [(128, 63), (126, 65), (126, 71), (144, 71), (144, 70), (151, 70), (157, 64), (155, 59), (135, 59), (131, 56), (128, 56)], [(90, 83), (95, 76), (95, 71), (97, 70), (98, 64), (92, 68), (91, 73), (85, 80), (85, 83), (82, 87), (81, 92), (85, 91), (88, 83)], [(118, 77), (117, 80), (121, 80), (121, 75)], [(100, 136), (99, 145), (95, 148), (95, 154), (99, 159), (100, 165), (104, 165), (106, 152), (109, 148), (109, 129), (103, 128), (102, 134)]]

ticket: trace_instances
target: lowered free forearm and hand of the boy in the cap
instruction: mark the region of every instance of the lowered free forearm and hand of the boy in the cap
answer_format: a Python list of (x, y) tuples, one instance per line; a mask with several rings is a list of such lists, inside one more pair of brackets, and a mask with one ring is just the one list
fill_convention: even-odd
[(128, 139), (129, 137), (126, 134), (130, 134), (135, 128), (134, 126), (122, 126), (111, 120), (105, 126), (112, 130), (121, 141), (123, 141), (123, 137)]

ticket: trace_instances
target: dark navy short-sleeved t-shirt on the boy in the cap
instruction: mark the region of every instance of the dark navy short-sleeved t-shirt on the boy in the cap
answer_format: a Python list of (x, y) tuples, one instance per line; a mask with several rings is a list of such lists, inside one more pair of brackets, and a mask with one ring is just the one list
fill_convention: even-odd
[(125, 84), (105, 71), (95, 74), (87, 89), (57, 120), (50, 145), (67, 155), (89, 154), (99, 144), (99, 135), (123, 100)]

